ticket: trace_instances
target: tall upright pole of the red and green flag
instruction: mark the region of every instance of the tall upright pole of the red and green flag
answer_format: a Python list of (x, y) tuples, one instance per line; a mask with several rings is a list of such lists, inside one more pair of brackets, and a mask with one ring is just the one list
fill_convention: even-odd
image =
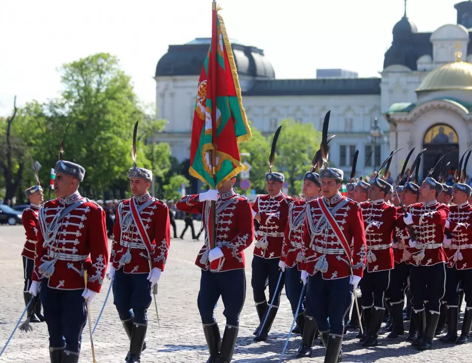
[[(211, 152), (211, 172), (213, 174), (213, 180), (215, 189), (217, 189), (217, 2), (213, 0), (211, 7), (211, 52), (210, 52), (210, 64), (211, 64), (211, 131), (213, 144), (213, 150)], [(210, 249), (216, 247), (216, 215), (215, 215), (216, 203), (214, 200), (211, 201), (210, 218), (211, 228), (208, 228)], [(210, 226), (208, 226), (210, 227)]]

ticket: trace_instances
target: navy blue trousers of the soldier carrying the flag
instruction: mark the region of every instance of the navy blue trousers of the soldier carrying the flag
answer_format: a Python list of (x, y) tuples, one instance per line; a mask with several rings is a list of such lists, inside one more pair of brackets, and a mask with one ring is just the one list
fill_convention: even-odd
[(239, 326), (239, 315), (246, 299), (246, 273), (244, 269), (223, 272), (202, 270), (198, 307), (203, 324), (213, 324), (214, 308), (218, 299), (223, 300), (226, 324)]

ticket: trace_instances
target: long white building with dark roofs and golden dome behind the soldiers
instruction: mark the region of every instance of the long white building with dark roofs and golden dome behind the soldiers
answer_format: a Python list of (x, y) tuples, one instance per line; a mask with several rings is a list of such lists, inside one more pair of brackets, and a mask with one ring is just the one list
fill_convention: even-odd
[[(450, 147), (462, 153), (472, 144), (472, 65), (467, 63), (472, 61), (472, 1), (455, 8), (457, 24), (432, 33), (419, 32), (405, 13), (392, 30), (378, 78), (277, 79), (261, 49), (232, 43), (248, 118), (270, 135), (288, 117), (321, 130), (331, 110), (329, 132), (337, 136), (330, 144), (330, 159), (345, 172), (356, 149), (359, 174), (372, 148), (375, 157), (366, 173), (390, 149), (403, 147), (391, 164), (396, 176), (411, 148), (426, 147), (420, 173), (426, 174), (438, 153)], [(156, 67), (156, 106), (159, 116), (169, 121), (162, 140), (180, 161), (190, 154), (196, 86), (209, 42), (198, 38), (171, 45)], [(372, 138), (376, 117), (384, 136)], [(457, 167), (458, 159), (458, 153), (451, 154), (450, 166)]]

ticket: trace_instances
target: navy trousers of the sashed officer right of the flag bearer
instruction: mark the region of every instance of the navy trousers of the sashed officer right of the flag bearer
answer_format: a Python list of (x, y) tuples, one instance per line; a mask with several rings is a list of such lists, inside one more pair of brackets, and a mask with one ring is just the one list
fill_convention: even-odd
[(324, 280), (321, 272), (308, 279), (307, 299), (320, 332), (343, 335), (344, 316), (351, 307), (349, 277)]

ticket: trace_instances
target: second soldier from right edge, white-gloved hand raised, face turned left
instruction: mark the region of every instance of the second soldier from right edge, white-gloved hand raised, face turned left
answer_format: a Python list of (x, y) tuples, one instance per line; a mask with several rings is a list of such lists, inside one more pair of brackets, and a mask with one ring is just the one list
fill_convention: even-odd
[(444, 296), (446, 273), (442, 243), (449, 207), (438, 203), (442, 185), (431, 176), (423, 181), (419, 191), (421, 203), (410, 205), (403, 220), (412, 226), (417, 238), (410, 238), (407, 249), (413, 264), (410, 291), (418, 327), (418, 336), (411, 345), (427, 350), (431, 349)]

